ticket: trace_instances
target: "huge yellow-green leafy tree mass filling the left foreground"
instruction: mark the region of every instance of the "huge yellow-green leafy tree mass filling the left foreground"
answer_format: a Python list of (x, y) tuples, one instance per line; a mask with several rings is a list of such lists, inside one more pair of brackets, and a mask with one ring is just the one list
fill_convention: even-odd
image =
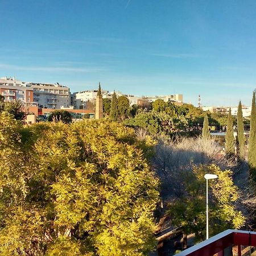
[(147, 255), (151, 143), (106, 120), (22, 127), (0, 114), (0, 254)]

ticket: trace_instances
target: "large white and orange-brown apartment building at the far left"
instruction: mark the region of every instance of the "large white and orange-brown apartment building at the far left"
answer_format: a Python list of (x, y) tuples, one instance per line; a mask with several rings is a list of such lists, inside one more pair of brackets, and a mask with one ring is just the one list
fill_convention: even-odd
[(68, 108), (70, 105), (69, 88), (58, 83), (22, 82), (14, 77), (2, 77), (0, 94), (5, 97), (5, 101), (20, 100), (42, 108), (60, 109), (61, 106)]

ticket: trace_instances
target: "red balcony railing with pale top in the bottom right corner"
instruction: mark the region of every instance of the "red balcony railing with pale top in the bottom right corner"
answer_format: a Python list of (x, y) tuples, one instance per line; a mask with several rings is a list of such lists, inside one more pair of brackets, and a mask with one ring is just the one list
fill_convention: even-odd
[[(234, 255), (242, 254), (241, 246), (256, 246), (256, 232), (228, 229), (197, 245), (194, 245), (175, 256), (228, 256), (233, 255), (228, 249), (235, 247)], [(247, 254), (249, 255), (249, 254)]]

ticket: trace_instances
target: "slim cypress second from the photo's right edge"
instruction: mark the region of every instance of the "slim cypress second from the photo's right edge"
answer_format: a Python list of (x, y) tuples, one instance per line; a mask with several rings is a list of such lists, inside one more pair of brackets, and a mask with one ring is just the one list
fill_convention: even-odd
[(237, 139), (238, 139), (238, 155), (240, 158), (245, 157), (245, 135), (243, 134), (243, 113), (241, 101), (237, 110)]

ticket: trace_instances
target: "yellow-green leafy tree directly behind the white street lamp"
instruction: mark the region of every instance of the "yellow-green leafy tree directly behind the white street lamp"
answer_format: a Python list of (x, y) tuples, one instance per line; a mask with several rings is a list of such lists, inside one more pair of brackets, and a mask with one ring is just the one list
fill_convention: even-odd
[(245, 217), (237, 210), (238, 188), (233, 184), (232, 171), (222, 171), (218, 166), (195, 167), (184, 179), (186, 196), (169, 205), (172, 223), (182, 226), (185, 234), (195, 233), (196, 240), (205, 239), (205, 174), (216, 174), (218, 179), (209, 180), (209, 233), (210, 236), (226, 229), (238, 229)]

